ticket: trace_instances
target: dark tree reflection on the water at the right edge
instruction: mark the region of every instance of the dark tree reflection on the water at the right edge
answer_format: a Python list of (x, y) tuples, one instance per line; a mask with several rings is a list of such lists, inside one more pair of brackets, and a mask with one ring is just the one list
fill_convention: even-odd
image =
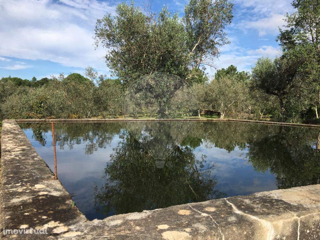
[(249, 143), (248, 159), (256, 171), (276, 175), (278, 188), (320, 183), (317, 129), (278, 127), (278, 132)]

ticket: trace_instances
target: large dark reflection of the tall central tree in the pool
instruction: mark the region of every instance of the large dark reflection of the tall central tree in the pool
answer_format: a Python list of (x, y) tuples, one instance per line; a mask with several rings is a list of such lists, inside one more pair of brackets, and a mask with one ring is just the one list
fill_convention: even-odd
[(174, 146), (157, 168), (148, 149), (129, 133), (111, 155), (105, 169), (106, 183), (96, 188), (96, 207), (104, 214), (141, 212), (176, 204), (213, 199), (217, 181), (204, 169), (205, 156), (195, 158), (189, 147)]

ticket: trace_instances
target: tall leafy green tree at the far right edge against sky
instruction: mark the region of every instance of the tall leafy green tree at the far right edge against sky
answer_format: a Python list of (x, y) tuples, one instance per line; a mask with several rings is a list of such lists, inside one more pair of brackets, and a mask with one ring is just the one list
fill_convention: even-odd
[(277, 40), (286, 58), (303, 58), (300, 72), (305, 75), (302, 87), (309, 102), (320, 105), (320, 2), (318, 0), (294, 0), (297, 10), (286, 15), (286, 26), (280, 29)]

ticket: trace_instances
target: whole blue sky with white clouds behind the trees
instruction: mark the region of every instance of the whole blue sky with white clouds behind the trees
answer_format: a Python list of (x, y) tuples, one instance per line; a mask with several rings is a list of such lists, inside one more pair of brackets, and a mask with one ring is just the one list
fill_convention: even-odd
[[(217, 68), (230, 64), (250, 71), (261, 56), (275, 57), (280, 48), (275, 41), (284, 15), (293, 12), (289, 0), (231, 0), (234, 19), (226, 32), (231, 44), (221, 48)], [(144, 8), (151, 4), (158, 12), (163, 5), (179, 11), (188, 1), (136, 1)], [(109, 75), (105, 50), (94, 49), (92, 36), (98, 18), (114, 14), (119, 1), (99, 0), (0, 0), (0, 77), (31, 79), (84, 73), (92, 66)], [(215, 69), (207, 69), (209, 75)]]

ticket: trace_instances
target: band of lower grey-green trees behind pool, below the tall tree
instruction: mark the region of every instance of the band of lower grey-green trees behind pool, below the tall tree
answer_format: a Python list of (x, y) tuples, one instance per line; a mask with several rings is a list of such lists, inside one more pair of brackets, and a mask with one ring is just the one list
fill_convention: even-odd
[[(272, 62), (269, 59), (262, 60)], [(279, 98), (261, 91), (255, 85), (253, 76), (260, 68), (259, 62), (252, 69), (253, 74), (239, 72), (233, 65), (222, 68), (216, 72), (213, 79), (208, 78), (175, 91), (166, 103), (165, 111), (161, 113), (153, 95), (134, 93), (121, 80), (102, 75), (98, 77), (90, 67), (86, 69), (87, 77), (78, 73), (69, 74), (67, 77), (60, 74), (58, 77), (41, 80), (33, 78), (30, 81), (5, 77), (0, 80), (1, 117), (180, 118), (201, 117), (202, 112), (213, 112), (216, 117), (221, 118), (271, 118), (274, 121), (291, 122), (316, 118), (314, 105), (308, 105), (307, 102), (306, 105), (300, 105), (304, 108), (298, 108), (299, 105), (287, 108), (288, 105), (285, 105), (286, 112), (282, 115)], [(293, 100), (299, 97), (294, 95), (294, 92), (290, 96)]]

